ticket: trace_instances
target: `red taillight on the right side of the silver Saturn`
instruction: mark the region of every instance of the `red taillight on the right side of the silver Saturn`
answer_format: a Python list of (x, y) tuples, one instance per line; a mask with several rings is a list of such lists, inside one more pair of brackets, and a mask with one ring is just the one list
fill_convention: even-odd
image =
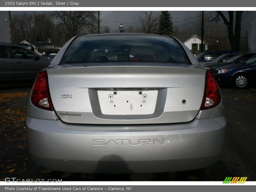
[(220, 90), (214, 75), (206, 71), (204, 99), (201, 110), (213, 108), (220, 104)]

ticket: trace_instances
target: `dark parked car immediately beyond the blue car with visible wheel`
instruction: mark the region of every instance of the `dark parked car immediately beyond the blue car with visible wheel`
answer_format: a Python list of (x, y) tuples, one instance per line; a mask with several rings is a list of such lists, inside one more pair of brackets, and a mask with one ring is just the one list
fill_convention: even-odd
[(234, 63), (245, 62), (245, 61), (249, 60), (254, 55), (256, 55), (256, 53), (242, 53), (242, 54), (236, 55), (234, 57), (231, 57), (230, 59), (228, 59), (224, 62), (209, 63), (209, 64), (205, 63), (202, 66), (213, 72), (217, 68), (233, 65)]

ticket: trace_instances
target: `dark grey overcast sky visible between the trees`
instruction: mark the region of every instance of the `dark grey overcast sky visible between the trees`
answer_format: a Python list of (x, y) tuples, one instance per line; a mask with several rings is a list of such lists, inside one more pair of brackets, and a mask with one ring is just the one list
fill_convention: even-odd
[[(12, 11), (12, 14), (22, 13), (23, 11)], [(173, 26), (178, 25), (180, 29), (189, 30), (189, 28), (193, 28), (193, 22), (199, 19), (199, 17), (197, 16), (200, 15), (201, 11), (171, 11), (170, 13), (172, 15)], [(209, 12), (204, 12), (204, 14), (207, 13)], [(124, 28), (129, 26), (137, 27), (136, 23), (138, 23), (137, 18), (139, 14), (141, 14), (140, 11), (101, 11), (101, 25), (109, 26), (111, 32), (119, 32), (119, 26), (121, 23), (123, 24)], [(227, 12), (224, 12), (224, 14), (226, 15)], [(242, 20), (242, 35), (244, 30), (248, 30), (249, 27), (249, 14), (244, 15), (245, 16), (243, 17)], [(224, 25), (223, 20), (221, 20), (219, 24), (221, 28), (226, 30), (226, 25)]]

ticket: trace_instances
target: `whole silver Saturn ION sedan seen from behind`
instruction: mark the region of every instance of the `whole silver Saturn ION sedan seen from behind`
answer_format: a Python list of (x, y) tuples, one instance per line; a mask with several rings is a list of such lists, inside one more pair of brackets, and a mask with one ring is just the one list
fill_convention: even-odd
[(211, 72), (174, 37), (70, 39), (28, 104), (30, 155), (44, 169), (145, 173), (215, 164), (226, 120)]

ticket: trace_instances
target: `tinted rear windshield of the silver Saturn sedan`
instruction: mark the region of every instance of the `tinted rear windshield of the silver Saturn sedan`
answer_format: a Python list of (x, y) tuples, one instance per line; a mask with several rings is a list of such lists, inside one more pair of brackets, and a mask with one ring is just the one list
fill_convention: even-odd
[[(172, 38), (144, 35), (102, 35), (78, 37), (60, 64), (104, 62), (165, 62), (191, 64)], [(115, 65), (115, 64), (114, 64)]]

